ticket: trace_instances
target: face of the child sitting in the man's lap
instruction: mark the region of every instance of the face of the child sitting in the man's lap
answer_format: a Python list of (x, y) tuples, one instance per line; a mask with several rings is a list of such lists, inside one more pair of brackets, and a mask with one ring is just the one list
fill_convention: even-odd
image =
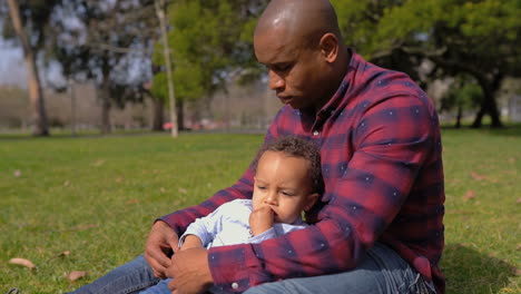
[(292, 224), (318, 197), (308, 177), (309, 161), (281, 151), (265, 151), (255, 174), (253, 209), (269, 206), (276, 223)]

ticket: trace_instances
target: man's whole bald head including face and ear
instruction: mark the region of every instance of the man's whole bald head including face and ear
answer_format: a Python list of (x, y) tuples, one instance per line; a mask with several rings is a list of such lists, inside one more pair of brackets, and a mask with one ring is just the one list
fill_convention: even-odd
[(333, 97), (350, 62), (327, 0), (272, 0), (255, 28), (254, 48), (281, 101), (312, 112)]

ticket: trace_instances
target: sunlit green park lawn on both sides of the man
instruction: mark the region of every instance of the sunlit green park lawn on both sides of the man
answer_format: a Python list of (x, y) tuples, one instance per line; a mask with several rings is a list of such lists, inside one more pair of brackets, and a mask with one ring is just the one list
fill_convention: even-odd
[[(156, 217), (233, 184), (262, 139), (0, 136), (0, 293), (71, 291), (134, 258)], [(521, 293), (521, 128), (445, 129), (443, 141), (448, 293)]]

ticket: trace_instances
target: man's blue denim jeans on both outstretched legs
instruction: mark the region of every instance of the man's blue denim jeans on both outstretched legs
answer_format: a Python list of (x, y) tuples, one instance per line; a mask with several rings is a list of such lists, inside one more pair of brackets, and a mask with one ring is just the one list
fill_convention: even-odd
[[(101, 282), (102, 281), (102, 282)], [(134, 283), (136, 282), (136, 283)], [(135, 261), (110, 272), (75, 293), (128, 294), (146, 290), (147, 294), (170, 294), (167, 281), (158, 283), (145, 258)], [(151, 286), (151, 287), (150, 287)], [(432, 283), (425, 282), (400, 255), (387, 246), (376, 243), (358, 267), (338, 274), (288, 278), (262, 284), (244, 294), (362, 294), (362, 293), (435, 293)]]

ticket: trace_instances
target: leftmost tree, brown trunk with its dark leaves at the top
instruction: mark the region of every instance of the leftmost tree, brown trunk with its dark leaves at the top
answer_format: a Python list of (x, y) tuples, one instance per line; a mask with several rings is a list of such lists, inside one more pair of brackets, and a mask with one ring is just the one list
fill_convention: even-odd
[[(4, 22), (4, 37), (18, 37), (28, 71), (29, 99), (33, 136), (49, 136), (43, 92), (37, 65), (38, 52), (45, 46), (45, 31), (53, 7), (58, 1), (8, 0), (12, 27)], [(20, 12), (21, 11), (21, 12)]]

